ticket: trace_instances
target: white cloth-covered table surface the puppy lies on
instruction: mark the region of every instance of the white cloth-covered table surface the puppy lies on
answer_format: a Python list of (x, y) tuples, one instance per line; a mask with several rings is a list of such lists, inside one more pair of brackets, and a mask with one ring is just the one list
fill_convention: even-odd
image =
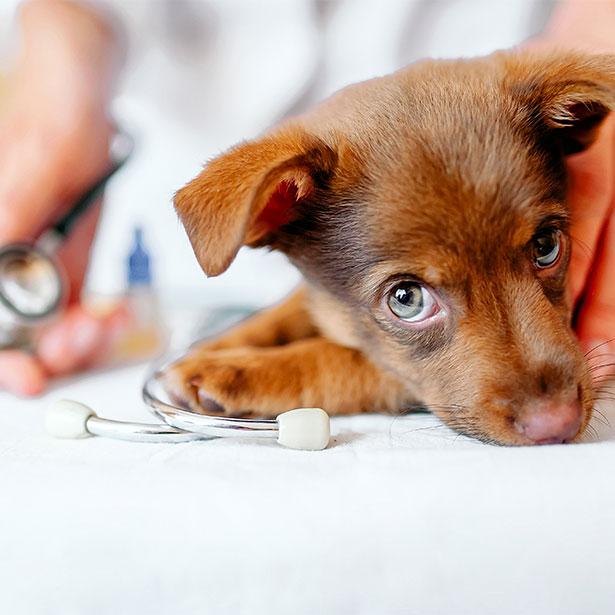
[(600, 422), (598, 440), (534, 448), (420, 414), (334, 419), (323, 452), (43, 433), (58, 397), (148, 420), (144, 373), (0, 395), (0, 613), (613, 612), (615, 434)]

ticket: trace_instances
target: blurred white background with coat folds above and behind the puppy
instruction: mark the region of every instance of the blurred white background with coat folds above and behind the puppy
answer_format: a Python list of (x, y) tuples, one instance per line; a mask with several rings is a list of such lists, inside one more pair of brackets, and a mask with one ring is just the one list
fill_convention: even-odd
[[(18, 2), (0, 0), (3, 64)], [(92, 4), (92, 3), (91, 3)], [(96, 3), (94, 3), (96, 4)], [(296, 284), (284, 258), (243, 250), (206, 279), (171, 198), (202, 164), (344, 85), (424, 56), (486, 54), (544, 25), (545, 0), (109, 0), (127, 40), (113, 115), (135, 138), (107, 189), (87, 287), (115, 294), (135, 226), (172, 302), (267, 304)]]

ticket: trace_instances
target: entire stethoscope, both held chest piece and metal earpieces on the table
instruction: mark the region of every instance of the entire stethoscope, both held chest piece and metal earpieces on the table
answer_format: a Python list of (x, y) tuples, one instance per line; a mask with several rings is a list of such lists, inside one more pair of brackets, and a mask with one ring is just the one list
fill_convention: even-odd
[[(108, 172), (34, 244), (0, 248), (0, 349), (28, 348), (38, 326), (63, 307), (67, 284), (55, 255), (75, 223), (101, 196), (107, 182), (132, 152), (132, 139), (118, 133), (111, 143)], [(104, 436), (133, 442), (187, 442), (225, 437), (276, 439), (288, 448), (321, 450), (329, 443), (329, 416), (320, 408), (298, 408), (276, 419), (241, 419), (198, 414), (164, 399), (160, 371), (149, 376), (143, 400), (162, 423), (100, 418), (80, 402), (59, 400), (49, 409), (47, 432), (59, 438)]]

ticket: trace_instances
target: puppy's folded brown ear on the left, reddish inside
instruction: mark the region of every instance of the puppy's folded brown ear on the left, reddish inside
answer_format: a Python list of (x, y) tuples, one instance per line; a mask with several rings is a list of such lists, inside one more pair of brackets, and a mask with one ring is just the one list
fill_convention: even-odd
[(291, 128), (239, 144), (175, 195), (175, 209), (207, 275), (224, 272), (242, 245), (262, 245), (331, 175), (335, 151)]

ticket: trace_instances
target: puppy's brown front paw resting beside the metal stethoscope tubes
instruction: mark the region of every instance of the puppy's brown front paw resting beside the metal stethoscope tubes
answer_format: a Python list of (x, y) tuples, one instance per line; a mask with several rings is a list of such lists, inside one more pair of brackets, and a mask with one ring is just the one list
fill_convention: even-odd
[(195, 412), (276, 416), (293, 400), (289, 387), (280, 390), (283, 375), (263, 354), (253, 348), (197, 351), (167, 367), (161, 381), (173, 401)]

